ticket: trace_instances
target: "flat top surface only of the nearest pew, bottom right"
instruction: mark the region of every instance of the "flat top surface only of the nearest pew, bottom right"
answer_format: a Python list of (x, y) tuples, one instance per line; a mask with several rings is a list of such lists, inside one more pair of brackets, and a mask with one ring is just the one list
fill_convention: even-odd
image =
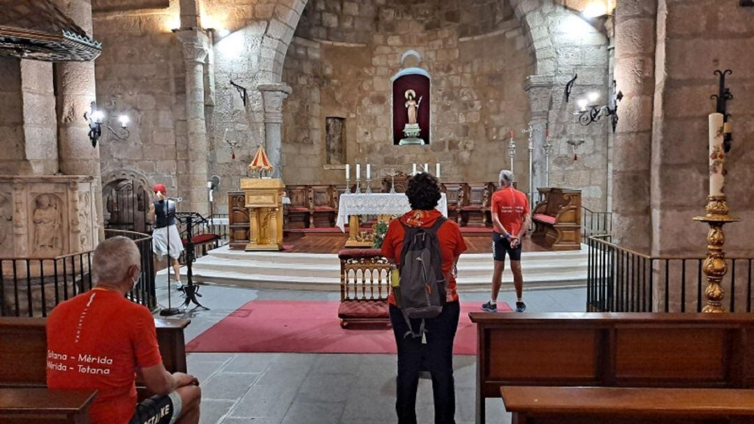
[(500, 388), (509, 412), (631, 416), (754, 416), (754, 390), (618, 387)]

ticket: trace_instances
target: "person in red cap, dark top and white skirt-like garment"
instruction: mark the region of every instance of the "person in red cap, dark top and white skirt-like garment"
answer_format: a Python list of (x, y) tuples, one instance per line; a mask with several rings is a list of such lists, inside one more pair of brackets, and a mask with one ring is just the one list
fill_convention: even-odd
[(183, 243), (176, 227), (176, 203), (167, 199), (165, 185), (157, 184), (152, 191), (155, 193), (156, 199), (149, 205), (149, 220), (152, 221), (154, 228), (152, 231), (152, 252), (155, 254), (155, 261), (164, 261), (170, 253), (173, 275), (180, 285), (181, 274), (178, 258), (183, 252)]

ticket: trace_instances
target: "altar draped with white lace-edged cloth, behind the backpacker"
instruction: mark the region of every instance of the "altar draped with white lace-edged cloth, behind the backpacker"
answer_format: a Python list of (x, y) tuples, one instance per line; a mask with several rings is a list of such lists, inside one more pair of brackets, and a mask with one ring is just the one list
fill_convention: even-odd
[[(345, 233), (348, 221), (348, 241), (345, 247), (372, 247), (372, 233), (360, 230), (360, 215), (376, 215), (378, 221), (389, 221), (391, 217), (403, 215), (411, 210), (409, 198), (403, 193), (341, 194), (336, 226)], [(437, 210), (448, 216), (448, 198), (443, 193)]]

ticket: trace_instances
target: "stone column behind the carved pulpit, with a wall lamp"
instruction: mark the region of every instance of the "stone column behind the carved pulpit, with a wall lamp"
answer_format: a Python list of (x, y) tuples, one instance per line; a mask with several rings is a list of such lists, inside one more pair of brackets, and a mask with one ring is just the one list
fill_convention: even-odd
[[(87, 35), (92, 35), (91, 0), (56, 0), (56, 5)], [(100, 147), (93, 148), (87, 133), (89, 126), (84, 112), (90, 111), (96, 99), (94, 62), (55, 64), (57, 78), (57, 149), (60, 172), (66, 175), (89, 175), (94, 178), (95, 191), (102, 193)], [(97, 223), (103, 239), (102, 196), (97, 196)], [(97, 239), (94, 240), (97, 245)]]

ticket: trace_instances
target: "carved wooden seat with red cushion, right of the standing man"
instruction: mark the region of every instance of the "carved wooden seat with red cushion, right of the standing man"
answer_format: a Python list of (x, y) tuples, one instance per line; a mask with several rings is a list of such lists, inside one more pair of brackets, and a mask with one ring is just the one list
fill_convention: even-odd
[(581, 191), (538, 188), (544, 200), (532, 211), (532, 237), (544, 239), (553, 250), (581, 249)]

